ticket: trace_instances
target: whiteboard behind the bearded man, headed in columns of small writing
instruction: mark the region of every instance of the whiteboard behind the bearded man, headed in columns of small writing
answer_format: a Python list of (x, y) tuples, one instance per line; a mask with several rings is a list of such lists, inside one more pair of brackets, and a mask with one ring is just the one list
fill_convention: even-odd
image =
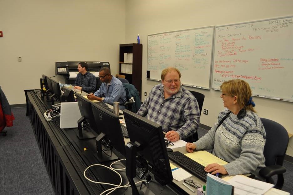
[(161, 81), (163, 69), (181, 72), (183, 85), (210, 89), (214, 27), (180, 30), (147, 37), (147, 78)]

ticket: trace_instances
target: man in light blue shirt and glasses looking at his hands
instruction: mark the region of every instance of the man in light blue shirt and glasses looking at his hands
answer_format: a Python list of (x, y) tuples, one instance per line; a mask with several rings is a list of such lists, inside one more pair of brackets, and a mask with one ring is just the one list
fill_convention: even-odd
[(122, 82), (111, 75), (111, 71), (108, 67), (101, 68), (99, 77), (102, 82), (100, 89), (95, 93), (87, 95), (89, 100), (98, 100), (110, 104), (119, 102), (120, 105), (127, 101), (125, 88)]

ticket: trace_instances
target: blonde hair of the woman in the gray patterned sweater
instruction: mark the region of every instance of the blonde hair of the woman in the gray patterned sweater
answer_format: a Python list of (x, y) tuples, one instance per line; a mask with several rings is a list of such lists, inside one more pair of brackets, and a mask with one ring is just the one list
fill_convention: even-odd
[[(245, 108), (245, 110), (255, 112), (252, 104), (249, 103), (248, 105), (249, 98), (252, 95), (252, 91), (247, 82), (241, 79), (225, 81), (220, 86), (220, 90), (223, 92), (223, 94), (231, 95), (232, 97), (237, 96), (237, 103), (241, 109)], [(251, 100), (251, 102), (253, 101)]]

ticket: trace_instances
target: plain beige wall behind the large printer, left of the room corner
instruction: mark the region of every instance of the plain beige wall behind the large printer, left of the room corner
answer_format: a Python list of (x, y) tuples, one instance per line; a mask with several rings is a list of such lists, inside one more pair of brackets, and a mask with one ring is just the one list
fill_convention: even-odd
[[(10, 104), (25, 103), (58, 61), (106, 61), (119, 72), (125, 0), (1, 0), (0, 85)], [(17, 56), (22, 61), (17, 61)], [(55, 77), (56, 78), (56, 77)]]

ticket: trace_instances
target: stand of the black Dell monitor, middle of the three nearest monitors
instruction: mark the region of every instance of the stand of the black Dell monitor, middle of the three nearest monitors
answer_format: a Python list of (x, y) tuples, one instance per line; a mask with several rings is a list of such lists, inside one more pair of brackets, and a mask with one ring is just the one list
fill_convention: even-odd
[[(104, 133), (100, 133), (96, 138), (97, 154), (95, 155), (95, 158), (99, 162), (117, 160), (118, 157), (111, 150), (103, 150), (102, 149), (102, 140), (104, 140), (104, 138), (105, 138)], [(104, 152), (104, 154), (103, 154), (103, 152)]]

